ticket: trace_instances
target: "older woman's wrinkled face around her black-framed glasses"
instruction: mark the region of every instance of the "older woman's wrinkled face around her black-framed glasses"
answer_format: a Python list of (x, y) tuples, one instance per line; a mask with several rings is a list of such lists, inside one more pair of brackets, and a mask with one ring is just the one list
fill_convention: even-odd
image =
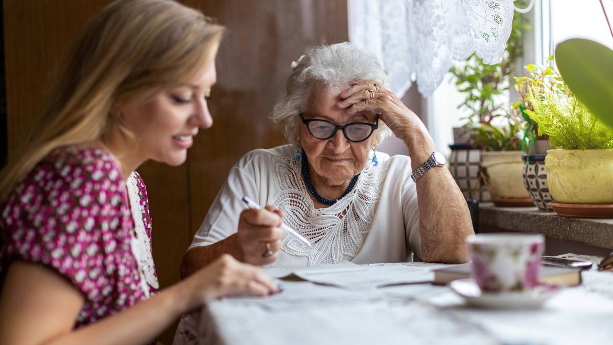
[[(307, 109), (303, 112), (305, 120), (316, 118), (337, 125), (354, 122), (373, 125), (376, 123), (376, 114), (372, 112), (345, 114), (344, 109), (337, 107), (337, 103), (342, 101), (338, 93), (340, 91), (333, 92), (329, 88), (315, 89), (307, 101)], [(317, 139), (311, 136), (307, 125), (300, 123), (300, 144), (307, 153), (311, 175), (313, 172), (316, 174), (311, 176), (311, 179), (319, 178), (329, 186), (344, 185), (359, 174), (364, 169), (370, 150), (375, 147), (376, 141), (376, 130), (368, 139), (361, 142), (348, 141), (341, 130), (337, 130), (330, 139)]]

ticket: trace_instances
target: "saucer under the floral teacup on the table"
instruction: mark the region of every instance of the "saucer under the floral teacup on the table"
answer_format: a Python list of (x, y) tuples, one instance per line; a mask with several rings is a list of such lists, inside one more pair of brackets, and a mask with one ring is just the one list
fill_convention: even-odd
[(459, 279), (449, 284), (453, 292), (472, 306), (498, 309), (536, 309), (555, 295), (559, 287), (541, 285), (526, 292), (482, 292), (474, 279)]

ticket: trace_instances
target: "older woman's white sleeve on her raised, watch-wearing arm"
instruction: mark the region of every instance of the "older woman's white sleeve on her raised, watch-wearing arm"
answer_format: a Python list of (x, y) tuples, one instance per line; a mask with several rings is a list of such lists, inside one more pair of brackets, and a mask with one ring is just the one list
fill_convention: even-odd
[(417, 190), (415, 182), (413, 182), (410, 176), (402, 186), (402, 213), (405, 216), (406, 241), (409, 250), (422, 258)]

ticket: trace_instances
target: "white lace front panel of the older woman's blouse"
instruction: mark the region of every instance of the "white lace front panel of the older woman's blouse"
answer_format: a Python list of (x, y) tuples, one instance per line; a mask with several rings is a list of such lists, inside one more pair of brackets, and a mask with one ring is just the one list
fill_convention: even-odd
[(286, 236), (281, 248), (291, 255), (308, 257), (308, 266), (340, 263), (343, 255), (355, 257), (362, 248), (364, 234), (370, 230), (381, 196), (382, 169), (368, 163), (354, 190), (332, 206), (315, 209), (302, 180), (300, 163), (293, 157), (274, 157), (272, 164), (280, 191), (272, 203), (283, 212), (283, 221), (314, 246), (308, 249)]

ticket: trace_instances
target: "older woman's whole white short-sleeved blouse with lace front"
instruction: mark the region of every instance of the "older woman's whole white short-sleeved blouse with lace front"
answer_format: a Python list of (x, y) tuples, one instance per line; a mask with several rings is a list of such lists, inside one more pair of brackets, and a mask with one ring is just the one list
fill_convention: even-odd
[[(270, 267), (320, 263), (405, 262), (411, 252), (421, 257), (419, 211), (411, 160), (377, 152), (378, 166), (367, 163), (356, 187), (337, 203), (315, 209), (302, 179), (296, 147), (253, 150), (230, 169), (190, 249), (220, 241), (237, 232), (245, 209), (243, 195), (283, 211), (283, 222), (305, 236), (313, 249), (291, 236), (281, 241), (278, 260)], [(262, 253), (265, 248), (262, 247)]]

